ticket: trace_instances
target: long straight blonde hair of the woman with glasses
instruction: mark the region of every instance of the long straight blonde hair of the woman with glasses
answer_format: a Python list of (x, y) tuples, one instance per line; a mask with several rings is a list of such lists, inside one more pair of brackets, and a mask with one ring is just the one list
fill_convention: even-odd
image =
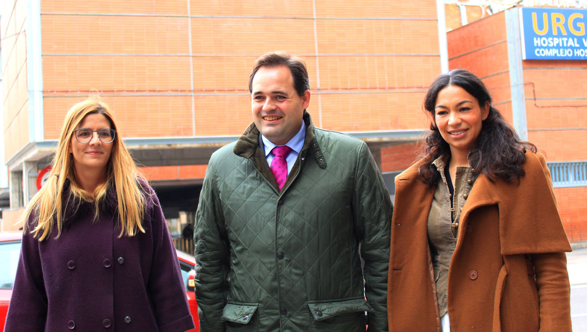
[[(134, 236), (137, 232), (145, 232), (142, 225), (146, 204), (146, 190), (141, 188), (139, 179), (143, 179), (139, 168), (130, 157), (129, 150), (119, 135), (112, 142), (112, 153), (106, 167), (106, 181), (100, 184), (93, 195), (79, 187), (73, 171), (73, 155), (69, 151), (69, 143), (72, 140), (73, 130), (79, 125), (87, 114), (102, 114), (110, 121), (112, 129), (116, 130), (116, 123), (110, 109), (98, 96), (90, 96), (88, 99), (75, 104), (65, 116), (63, 128), (59, 137), (57, 151), (52, 160), (53, 169), (45, 185), (36, 193), (29, 202), (23, 219), (23, 229), (33, 233), (40, 241), (49, 237), (53, 227), (57, 225), (59, 238), (63, 228), (63, 205), (71, 204), (69, 196), (64, 197), (66, 183), (70, 183), (70, 191), (74, 201), (79, 204), (82, 199), (93, 201), (95, 204), (95, 219), (99, 216), (100, 202), (106, 199), (107, 189), (110, 186), (116, 188), (118, 201), (118, 215), (120, 221), (120, 235)], [(146, 183), (146, 181), (144, 182)], [(68, 208), (68, 206), (65, 206)], [(34, 220), (29, 225), (29, 218)]]

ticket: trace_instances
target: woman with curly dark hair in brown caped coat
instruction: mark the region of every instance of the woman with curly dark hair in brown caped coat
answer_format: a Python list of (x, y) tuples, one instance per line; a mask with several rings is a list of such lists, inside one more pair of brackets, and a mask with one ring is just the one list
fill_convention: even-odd
[(439, 76), (424, 109), (426, 152), (395, 180), (389, 331), (571, 331), (544, 157), (466, 70)]

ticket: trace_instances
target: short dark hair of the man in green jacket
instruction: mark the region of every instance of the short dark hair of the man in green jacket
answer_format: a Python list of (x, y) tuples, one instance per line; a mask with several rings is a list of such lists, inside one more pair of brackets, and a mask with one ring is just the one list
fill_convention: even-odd
[(310, 90), (308, 69), (306, 69), (306, 63), (302, 59), (292, 56), (287, 52), (269, 52), (255, 60), (255, 67), (251, 72), (251, 76), (249, 76), (249, 93), (252, 93), (253, 78), (259, 68), (273, 68), (277, 66), (286, 66), (289, 68), (294, 79), (294, 89), (298, 93), (298, 96), (301, 97), (306, 90)]

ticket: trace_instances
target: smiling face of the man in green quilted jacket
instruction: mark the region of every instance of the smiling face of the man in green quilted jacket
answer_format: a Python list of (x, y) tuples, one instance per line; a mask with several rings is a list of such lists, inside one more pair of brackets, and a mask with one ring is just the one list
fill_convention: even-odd
[(274, 144), (288, 143), (302, 127), (310, 91), (299, 96), (286, 66), (261, 67), (252, 80), (251, 108), (258, 130)]

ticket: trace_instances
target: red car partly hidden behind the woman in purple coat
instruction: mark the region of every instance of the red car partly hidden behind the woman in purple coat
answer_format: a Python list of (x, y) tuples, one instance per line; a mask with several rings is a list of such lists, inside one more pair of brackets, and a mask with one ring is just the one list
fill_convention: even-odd
[[(4, 331), (8, 303), (12, 294), (12, 284), (16, 276), (18, 258), (21, 254), (22, 232), (0, 232), (0, 331)], [(177, 258), (180, 262), (181, 276), (185, 284), (188, 303), (190, 303), (191, 315), (194, 317), (194, 330), (200, 331), (198, 325), (198, 305), (195, 303), (194, 294), (194, 256), (178, 251)]]

